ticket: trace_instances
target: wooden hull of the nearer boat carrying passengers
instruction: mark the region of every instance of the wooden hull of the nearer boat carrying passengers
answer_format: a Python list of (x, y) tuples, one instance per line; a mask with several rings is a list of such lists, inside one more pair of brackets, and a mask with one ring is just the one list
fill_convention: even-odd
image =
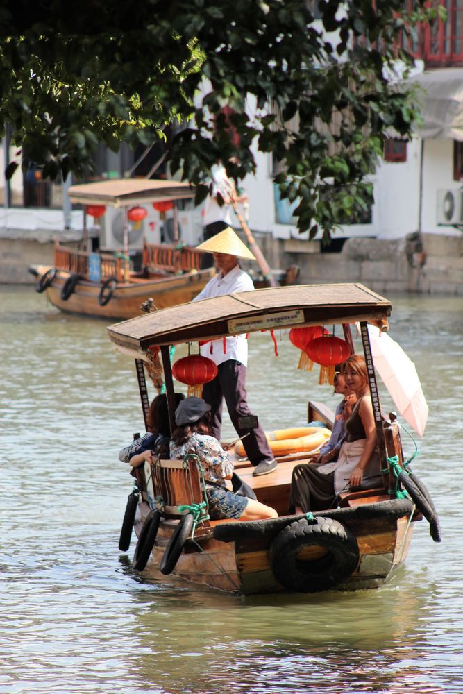
[[(149, 513), (149, 507), (145, 502), (142, 502), (140, 507), (143, 520)], [(367, 509), (363, 510), (364, 518), (355, 518), (352, 509), (337, 509), (337, 514), (333, 515), (342, 518), (343, 510), (346, 511), (343, 523), (357, 540), (359, 560), (353, 573), (339, 582), (335, 590), (378, 588), (392, 579), (405, 561), (412, 539), (414, 520), (419, 517), (411, 520), (410, 514), (395, 518), (385, 514), (384, 517), (367, 518)], [(330, 514), (332, 511), (326, 512), (327, 516)], [(172, 521), (162, 521), (151, 560), (145, 570), (146, 575), (174, 582), (183, 579), (210, 589), (242, 595), (291, 592), (273, 575), (269, 550), (274, 537), (280, 532), (279, 528), (296, 520), (296, 516), (280, 518), (278, 528), (275, 527), (274, 521), (260, 521), (261, 530), (266, 524), (269, 530), (258, 534), (248, 532), (251, 524), (236, 522), (235, 534), (240, 536), (232, 541), (216, 539), (210, 532), (209, 536), (199, 539), (197, 543), (187, 542), (174, 570), (167, 576), (160, 574), (159, 567), (175, 524)], [(239, 527), (241, 525), (242, 532)], [(140, 534), (141, 528), (142, 522), (135, 526), (137, 535)], [(311, 551), (313, 552), (313, 548)], [(313, 555), (306, 558), (310, 561), (319, 557)], [(308, 592), (312, 592), (311, 586), (307, 587)]]

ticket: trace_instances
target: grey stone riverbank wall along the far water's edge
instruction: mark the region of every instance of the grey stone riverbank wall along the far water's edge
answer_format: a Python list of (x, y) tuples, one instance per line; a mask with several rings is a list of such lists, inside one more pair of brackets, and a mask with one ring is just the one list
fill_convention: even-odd
[[(55, 236), (42, 230), (3, 230), (0, 283), (33, 284), (35, 278), (28, 268), (53, 264)], [(73, 230), (59, 235), (60, 242), (71, 246), (80, 238)], [(463, 234), (346, 239), (337, 253), (324, 251), (319, 241), (257, 234), (255, 240), (272, 268), (298, 266), (298, 284), (362, 282), (386, 296), (394, 291), (463, 296)]]

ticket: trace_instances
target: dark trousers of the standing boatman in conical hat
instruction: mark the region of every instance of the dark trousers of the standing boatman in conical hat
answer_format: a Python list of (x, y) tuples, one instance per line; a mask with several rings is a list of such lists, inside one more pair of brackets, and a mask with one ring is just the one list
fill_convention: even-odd
[(212, 436), (220, 441), (222, 405), (225, 398), (228, 414), (238, 436), (251, 431), (249, 436), (243, 439), (244, 450), (249, 457), (249, 462), (256, 466), (262, 460), (273, 460), (273, 453), (260, 425), (257, 429), (251, 430), (239, 428), (239, 417), (252, 414), (246, 402), (246, 366), (237, 362), (236, 359), (228, 359), (219, 364), (214, 380), (203, 385), (203, 398), (211, 407)]

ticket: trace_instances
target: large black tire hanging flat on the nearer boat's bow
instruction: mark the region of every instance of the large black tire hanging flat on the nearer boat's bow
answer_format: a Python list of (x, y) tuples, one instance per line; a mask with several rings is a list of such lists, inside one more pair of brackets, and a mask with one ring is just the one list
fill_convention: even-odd
[[(298, 561), (301, 549), (319, 546), (326, 557)], [(357, 540), (351, 530), (334, 518), (301, 518), (273, 538), (269, 561), (278, 583), (290, 591), (317, 593), (334, 588), (352, 575), (359, 562)]]

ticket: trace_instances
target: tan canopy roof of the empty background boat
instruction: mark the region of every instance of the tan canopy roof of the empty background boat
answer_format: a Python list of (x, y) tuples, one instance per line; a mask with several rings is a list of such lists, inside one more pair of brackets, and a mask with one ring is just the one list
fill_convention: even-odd
[(146, 178), (108, 178), (95, 183), (71, 185), (67, 194), (71, 202), (82, 205), (139, 205), (156, 201), (194, 198), (196, 189), (178, 180)]

